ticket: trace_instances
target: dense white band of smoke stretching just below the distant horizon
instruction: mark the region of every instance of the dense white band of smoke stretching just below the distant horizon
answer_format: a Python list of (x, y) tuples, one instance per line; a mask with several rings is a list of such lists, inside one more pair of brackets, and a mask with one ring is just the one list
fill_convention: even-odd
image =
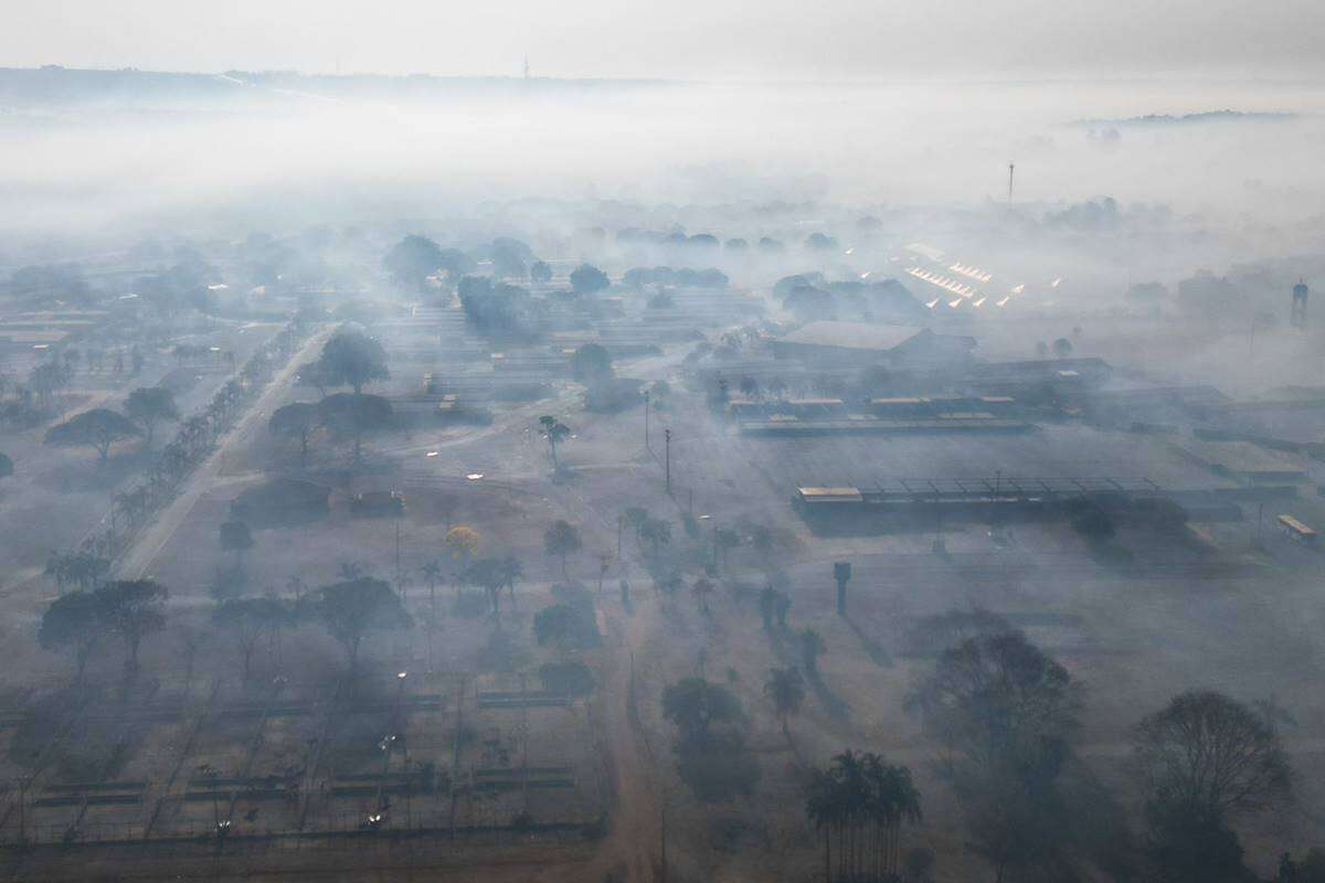
[[(1314, 148), (1325, 89), (1316, 86), (554, 90), (534, 81), (371, 99), (318, 94), (317, 83), (277, 93), (238, 77), (220, 81), (221, 98), (188, 109), (129, 101), (11, 113), (0, 120), (5, 224), (94, 232), (182, 208), (196, 224), (207, 217), (200, 204), (276, 200), (270, 210), (292, 222), (326, 212), (335, 220), (338, 205), (386, 201), (408, 214), (513, 196), (957, 205), (1006, 200), (1015, 162), (1019, 201), (1110, 196), (1222, 229), (1273, 226), (1268, 236), (1291, 242), (1325, 193)], [(1268, 116), (1124, 123), (1226, 109)]]

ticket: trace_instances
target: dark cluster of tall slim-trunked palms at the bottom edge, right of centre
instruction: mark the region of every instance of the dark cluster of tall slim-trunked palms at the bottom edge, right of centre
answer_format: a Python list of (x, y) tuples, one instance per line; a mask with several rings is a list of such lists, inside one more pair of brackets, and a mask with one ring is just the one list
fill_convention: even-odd
[(815, 770), (806, 814), (824, 835), (825, 883), (890, 883), (900, 879), (902, 826), (921, 821), (920, 792), (906, 767), (847, 751)]

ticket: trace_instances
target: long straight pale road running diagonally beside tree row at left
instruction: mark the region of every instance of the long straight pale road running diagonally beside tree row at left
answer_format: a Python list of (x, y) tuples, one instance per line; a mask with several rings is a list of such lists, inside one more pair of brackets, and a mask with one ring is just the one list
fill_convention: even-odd
[(212, 451), (207, 461), (193, 470), (184, 490), (175, 500), (162, 511), (156, 520), (138, 535), (132, 547), (121, 559), (118, 573), (122, 580), (143, 579), (148, 575), (151, 565), (160, 556), (162, 549), (175, 536), (175, 531), (184, 523), (188, 514), (197, 504), (203, 495), (219, 483), (221, 470), (225, 467), (227, 451), (235, 449), (242, 441), (252, 437), (253, 432), (262, 426), (264, 418), (270, 413), (272, 406), (285, 395), (286, 385), (313, 352), (321, 347), (331, 335), (331, 328), (319, 331), (309, 338), (307, 343), (290, 356), (290, 360), (268, 384), (266, 391), (254, 401), (240, 422), (228, 432), (221, 443)]

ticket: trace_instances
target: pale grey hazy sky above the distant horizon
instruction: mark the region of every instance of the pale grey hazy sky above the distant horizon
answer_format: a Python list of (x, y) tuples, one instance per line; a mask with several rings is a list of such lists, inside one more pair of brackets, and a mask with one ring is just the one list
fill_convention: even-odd
[(0, 0), (0, 66), (946, 78), (1325, 73), (1321, 0)]

